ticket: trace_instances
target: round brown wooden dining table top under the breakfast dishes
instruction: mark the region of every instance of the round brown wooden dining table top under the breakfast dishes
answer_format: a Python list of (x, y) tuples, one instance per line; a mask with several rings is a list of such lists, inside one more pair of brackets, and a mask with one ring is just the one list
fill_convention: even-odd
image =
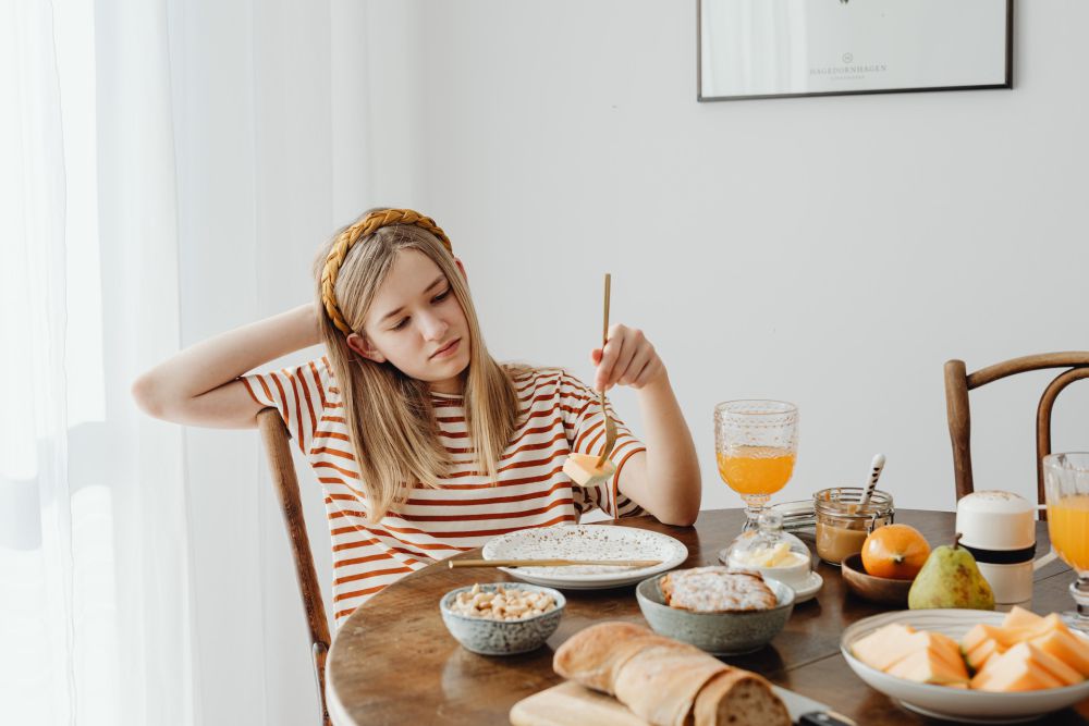
[[(900, 509), (896, 521), (917, 528), (932, 546), (953, 540), (954, 515)], [(671, 527), (652, 517), (633, 517), (604, 527), (662, 532), (688, 547), (682, 567), (718, 564), (718, 553), (741, 531), (743, 509), (701, 512), (693, 527)], [(806, 536), (800, 534), (804, 540)], [(813, 549), (811, 537), (807, 542)], [(1037, 522), (1037, 552), (1050, 547), (1045, 522)], [(480, 551), (458, 557), (478, 558)], [(821, 563), (823, 588), (794, 613), (771, 643), (747, 655), (722, 659), (772, 682), (831, 706), (858, 724), (947, 723), (920, 716), (859, 679), (840, 652), (840, 635), (852, 623), (889, 610), (849, 592), (839, 568)], [(1062, 562), (1036, 571), (1031, 610), (1069, 610), (1073, 573)], [(340, 628), (327, 666), (327, 701), (339, 726), (371, 724), (509, 724), (517, 701), (563, 681), (552, 655), (567, 638), (602, 620), (646, 625), (635, 587), (566, 590), (559, 629), (544, 647), (507, 656), (476, 655), (446, 630), (439, 600), (474, 582), (515, 581), (493, 568), (451, 569), (439, 562), (406, 576), (356, 610)], [(1084, 724), (1089, 701), (1047, 718), (1048, 724)]]

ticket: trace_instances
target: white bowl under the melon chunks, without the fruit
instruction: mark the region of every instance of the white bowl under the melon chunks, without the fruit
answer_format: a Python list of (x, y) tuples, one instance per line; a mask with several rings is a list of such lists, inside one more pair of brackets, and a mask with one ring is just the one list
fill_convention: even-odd
[(991, 693), (945, 686), (917, 684), (871, 668), (851, 654), (851, 645), (878, 628), (892, 623), (911, 625), (920, 630), (937, 630), (954, 640), (977, 623), (1002, 625), (1005, 613), (978, 610), (907, 610), (883, 613), (855, 623), (843, 631), (840, 650), (855, 674), (904, 707), (927, 716), (967, 724), (1013, 724), (1032, 721), (1089, 698), (1089, 680), (1065, 688), (1039, 691)]

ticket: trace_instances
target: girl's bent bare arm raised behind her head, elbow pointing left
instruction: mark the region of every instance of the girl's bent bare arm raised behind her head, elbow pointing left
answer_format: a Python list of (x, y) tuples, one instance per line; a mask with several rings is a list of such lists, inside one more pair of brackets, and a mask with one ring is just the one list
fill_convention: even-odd
[(262, 406), (238, 377), (319, 342), (314, 305), (301, 305), (185, 348), (136, 379), (133, 397), (167, 421), (252, 429)]

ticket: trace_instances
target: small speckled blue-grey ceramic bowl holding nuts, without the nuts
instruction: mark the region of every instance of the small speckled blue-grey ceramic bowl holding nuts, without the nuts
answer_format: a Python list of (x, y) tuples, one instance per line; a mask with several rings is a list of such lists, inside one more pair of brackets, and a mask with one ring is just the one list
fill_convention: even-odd
[(450, 606), (458, 593), (472, 590), (473, 586), (457, 588), (444, 594), (442, 600), (439, 601), (442, 622), (446, 625), (446, 629), (450, 630), (450, 635), (466, 650), (479, 653), (480, 655), (528, 653), (543, 645), (544, 641), (555, 632), (556, 627), (560, 625), (560, 618), (563, 617), (563, 608), (567, 602), (564, 596), (559, 590), (543, 588), (539, 585), (524, 582), (480, 585), (480, 589), (488, 592), (494, 592), (498, 588), (503, 588), (507, 592), (524, 590), (552, 595), (552, 600), (555, 602), (555, 610), (521, 620), (491, 620), (482, 617), (462, 615), (450, 610)]

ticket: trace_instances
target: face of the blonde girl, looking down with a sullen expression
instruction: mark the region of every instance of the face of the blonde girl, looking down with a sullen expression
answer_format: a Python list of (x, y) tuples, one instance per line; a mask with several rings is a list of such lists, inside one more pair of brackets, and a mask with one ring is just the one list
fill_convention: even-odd
[(469, 365), (468, 322), (446, 275), (423, 253), (397, 253), (367, 312), (364, 333), (347, 339), (356, 353), (389, 361), (433, 391), (461, 393), (461, 374)]

